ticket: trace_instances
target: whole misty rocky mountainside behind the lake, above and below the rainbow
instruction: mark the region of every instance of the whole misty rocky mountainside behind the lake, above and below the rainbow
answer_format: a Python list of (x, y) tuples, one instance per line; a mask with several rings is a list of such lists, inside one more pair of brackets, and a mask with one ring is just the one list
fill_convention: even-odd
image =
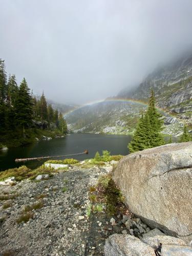
[(125, 88), (110, 101), (83, 106), (67, 115), (66, 120), (74, 132), (132, 133), (145, 106), (117, 99), (147, 102), (151, 89), (157, 106), (163, 110), (164, 133), (180, 134), (183, 121), (189, 125), (192, 122), (192, 53), (159, 66), (135, 90)]

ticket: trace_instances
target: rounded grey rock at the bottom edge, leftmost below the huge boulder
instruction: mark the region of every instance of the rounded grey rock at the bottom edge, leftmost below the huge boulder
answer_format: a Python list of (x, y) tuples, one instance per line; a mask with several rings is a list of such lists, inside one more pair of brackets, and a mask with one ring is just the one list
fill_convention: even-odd
[(105, 256), (154, 256), (154, 249), (130, 234), (113, 234), (105, 241)]

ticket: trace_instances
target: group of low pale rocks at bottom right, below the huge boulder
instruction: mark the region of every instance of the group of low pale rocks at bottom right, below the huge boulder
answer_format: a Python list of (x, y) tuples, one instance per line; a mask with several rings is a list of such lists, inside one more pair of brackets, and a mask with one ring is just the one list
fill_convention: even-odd
[(105, 256), (154, 256), (155, 250), (160, 243), (163, 256), (189, 256), (192, 254), (192, 247), (186, 246), (186, 243), (179, 239), (166, 236), (158, 229), (154, 229), (143, 236), (137, 238), (130, 234), (113, 234), (110, 236), (104, 246)]

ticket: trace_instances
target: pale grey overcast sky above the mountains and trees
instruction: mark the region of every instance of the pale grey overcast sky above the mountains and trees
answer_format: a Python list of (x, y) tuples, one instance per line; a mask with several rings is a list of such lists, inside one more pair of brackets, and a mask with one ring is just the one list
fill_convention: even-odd
[(0, 58), (61, 103), (138, 84), (192, 44), (191, 0), (0, 0)]

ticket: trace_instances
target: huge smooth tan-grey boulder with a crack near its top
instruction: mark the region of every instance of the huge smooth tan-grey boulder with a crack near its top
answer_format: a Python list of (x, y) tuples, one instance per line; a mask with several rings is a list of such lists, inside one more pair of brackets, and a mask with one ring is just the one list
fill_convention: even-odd
[(113, 178), (133, 214), (152, 228), (191, 240), (192, 142), (128, 155)]

